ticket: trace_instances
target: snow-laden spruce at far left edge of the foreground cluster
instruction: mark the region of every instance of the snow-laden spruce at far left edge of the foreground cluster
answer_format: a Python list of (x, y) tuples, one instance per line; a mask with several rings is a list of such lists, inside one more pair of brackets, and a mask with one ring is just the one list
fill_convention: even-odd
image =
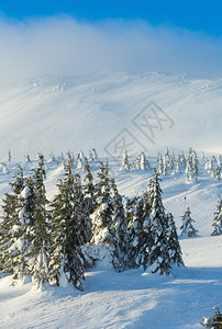
[(24, 188), (23, 170), (19, 167), (11, 193), (2, 200), (2, 222), (0, 224), (0, 264), (4, 272), (13, 272), (18, 277), (16, 265), (22, 262), (21, 239), (24, 231), (19, 213), (21, 211), (20, 193)]

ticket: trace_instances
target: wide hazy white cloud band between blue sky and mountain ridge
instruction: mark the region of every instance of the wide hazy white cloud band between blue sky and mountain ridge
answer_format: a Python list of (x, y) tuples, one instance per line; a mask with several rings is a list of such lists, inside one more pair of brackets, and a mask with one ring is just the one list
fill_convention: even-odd
[(0, 81), (98, 70), (222, 76), (222, 38), (143, 21), (0, 22)]

